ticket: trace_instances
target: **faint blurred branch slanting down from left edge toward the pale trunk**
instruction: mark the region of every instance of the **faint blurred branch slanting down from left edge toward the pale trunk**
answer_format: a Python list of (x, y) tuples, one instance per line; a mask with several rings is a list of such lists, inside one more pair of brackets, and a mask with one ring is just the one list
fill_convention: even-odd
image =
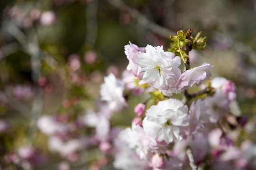
[(31, 111), (27, 108), (27, 106), (25, 106), (24, 104), (22, 104), (21, 102), (19, 102), (17, 99), (12, 98), (8, 93), (5, 93), (3, 91), (0, 91), (0, 95), (4, 95), (8, 101), (8, 104), (16, 111), (18, 111), (21, 115), (23, 115), (24, 117), (30, 118), (31, 115)]

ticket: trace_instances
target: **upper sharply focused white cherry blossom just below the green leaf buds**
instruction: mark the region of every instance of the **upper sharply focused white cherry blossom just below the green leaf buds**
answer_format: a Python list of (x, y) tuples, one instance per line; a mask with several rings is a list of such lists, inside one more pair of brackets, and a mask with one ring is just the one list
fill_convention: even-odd
[(175, 57), (173, 52), (164, 51), (163, 46), (147, 45), (145, 50), (146, 52), (137, 55), (136, 64), (144, 73), (139, 84), (150, 83), (159, 90), (168, 90), (169, 87), (174, 87), (181, 75), (178, 68), (181, 64), (180, 57)]

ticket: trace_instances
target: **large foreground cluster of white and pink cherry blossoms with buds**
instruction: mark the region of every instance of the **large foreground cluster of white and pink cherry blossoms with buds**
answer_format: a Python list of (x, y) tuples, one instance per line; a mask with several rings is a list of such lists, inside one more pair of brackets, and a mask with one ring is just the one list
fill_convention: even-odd
[[(223, 77), (209, 81), (213, 66), (208, 63), (181, 71), (183, 56), (164, 51), (162, 46), (139, 48), (130, 42), (125, 46), (125, 54), (129, 63), (123, 72), (124, 88), (135, 95), (149, 93), (151, 100), (138, 103), (134, 108), (137, 117), (132, 120), (131, 127), (121, 130), (112, 139), (115, 168), (186, 169), (189, 166), (188, 147), (193, 151), (194, 166), (204, 165), (207, 156), (211, 157), (207, 166), (213, 169), (251, 166), (248, 159), (241, 157), (243, 149), (234, 145), (234, 137), (229, 136), (224, 124), (220, 123), (225, 120), (231, 125), (234, 123), (231, 119), (236, 118), (230, 113), (236, 100), (233, 82)], [(204, 80), (208, 81), (202, 84)], [(111, 83), (110, 86), (116, 86), (114, 78)], [(194, 84), (202, 84), (199, 92), (188, 93)], [(171, 98), (173, 93), (184, 93), (183, 101)], [(111, 102), (116, 103), (113, 96), (119, 96), (120, 111), (126, 102), (112, 91), (105, 97), (109, 98), (110, 109)]]

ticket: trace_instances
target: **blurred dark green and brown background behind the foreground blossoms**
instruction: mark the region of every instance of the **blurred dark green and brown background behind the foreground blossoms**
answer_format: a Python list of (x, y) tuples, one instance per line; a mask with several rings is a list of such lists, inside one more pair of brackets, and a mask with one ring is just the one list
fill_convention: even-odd
[[(234, 81), (238, 112), (256, 124), (256, 0), (2, 0), (0, 12), (0, 164), (29, 145), (42, 154), (29, 166), (65, 168), (63, 156), (50, 152), (47, 136), (37, 130), (38, 118), (77, 119), (95, 107), (104, 76), (121, 78), (129, 41), (168, 50), (169, 36), (189, 28), (192, 36), (202, 31), (207, 37), (204, 51), (190, 52), (192, 67), (208, 62), (213, 76)], [(133, 108), (113, 124), (130, 125)], [(101, 158), (95, 150), (81, 155), (87, 160), (65, 160), (72, 169), (94, 170)]]

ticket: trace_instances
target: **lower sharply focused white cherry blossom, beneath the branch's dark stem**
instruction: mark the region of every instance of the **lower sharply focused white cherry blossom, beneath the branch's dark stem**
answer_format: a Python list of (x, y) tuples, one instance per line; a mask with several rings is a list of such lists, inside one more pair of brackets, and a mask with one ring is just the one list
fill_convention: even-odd
[(188, 107), (177, 99), (160, 101), (146, 111), (143, 128), (146, 134), (167, 144), (182, 140), (180, 128), (189, 125)]

